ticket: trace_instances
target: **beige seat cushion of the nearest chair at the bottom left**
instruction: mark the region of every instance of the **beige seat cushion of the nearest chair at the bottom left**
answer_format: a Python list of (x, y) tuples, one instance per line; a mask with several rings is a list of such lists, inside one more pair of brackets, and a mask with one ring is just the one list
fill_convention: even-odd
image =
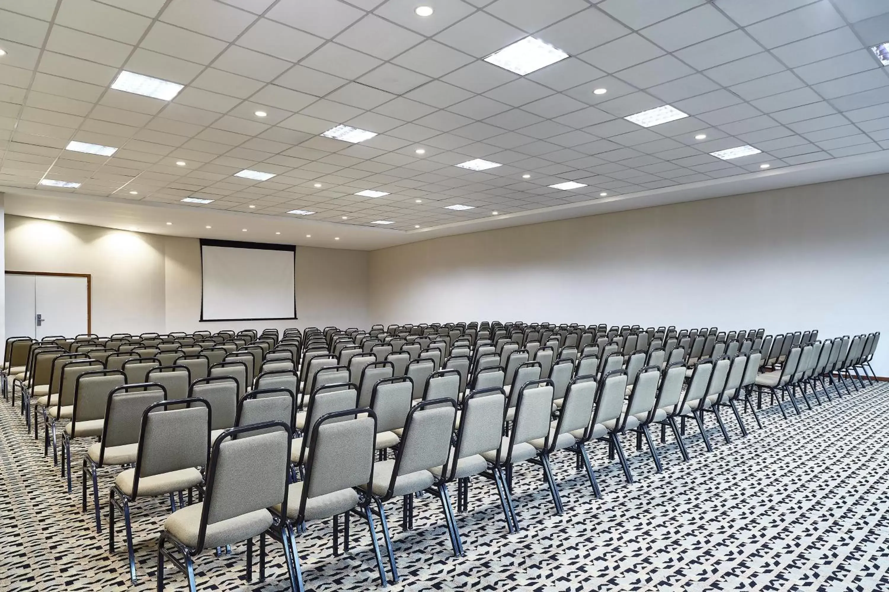
[[(164, 530), (188, 547), (196, 547), (197, 533), (201, 526), (201, 511), (204, 502), (187, 506), (173, 512), (164, 520)], [(204, 536), (204, 549), (225, 547), (226, 545), (252, 539), (268, 530), (272, 525), (272, 515), (268, 509), (257, 509), (241, 516), (220, 520), (207, 525)]]

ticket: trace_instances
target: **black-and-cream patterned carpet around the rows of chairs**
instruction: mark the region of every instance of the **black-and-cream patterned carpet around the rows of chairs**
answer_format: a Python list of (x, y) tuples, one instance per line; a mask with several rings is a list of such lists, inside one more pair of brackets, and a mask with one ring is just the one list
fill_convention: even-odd
[[(889, 383), (881, 383), (788, 421), (777, 410), (766, 411), (763, 430), (747, 415), (748, 438), (740, 438), (732, 418), (731, 444), (710, 416), (714, 452), (706, 453), (690, 429), (691, 462), (682, 462), (675, 446), (661, 445), (660, 475), (648, 454), (635, 452), (631, 438), (624, 438), (633, 485), (623, 481), (616, 463), (608, 464), (605, 445), (591, 445), (601, 501), (574, 472), (573, 456), (557, 456), (564, 517), (554, 515), (540, 469), (523, 466), (515, 476), (523, 530), (509, 536), (493, 483), (473, 481), (475, 511), (458, 516), (467, 552), (461, 559), (450, 555), (435, 499), (415, 501), (410, 533), (401, 531), (400, 501), (391, 502), (402, 581), (389, 589), (889, 590), (887, 399)], [(92, 513), (80, 512), (77, 471), (68, 494), (52, 457), (44, 458), (42, 443), (28, 438), (23, 425), (18, 410), (0, 403), (0, 588), (154, 589), (156, 533), (168, 508), (142, 501), (133, 511), (140, 578), (133, 587), (123, 533), (110, 555), (107, 529), (97, 535)], [(75, 448), (76, 466), (84, 447)], [(110, 473), (100, 476), (106, 525), (111, 480)], [(329, 523), (308, 526), (298, 539), (308, 589), (379, 588), (366, 526), (353, 521), (352, 537), (352, 551), (333, 557)], [(287, 588), (280, 549), (269, 546), (262, 584), (244, 579), (244, 549), (199, 556), (198, 589)], [(170, 590), (186, 588), (172, 569), (166, 582)]]

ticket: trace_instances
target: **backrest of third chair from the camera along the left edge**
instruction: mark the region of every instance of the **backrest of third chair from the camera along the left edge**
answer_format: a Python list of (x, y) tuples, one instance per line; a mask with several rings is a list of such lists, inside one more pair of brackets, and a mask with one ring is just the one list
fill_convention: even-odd
[(162, 384), (124, 384), (108, 392), (105, 425), (102, 427), (99, 464), (105, 459), (105, 449), (139, 442), (142, 414), (158, 401), (166, 399)]

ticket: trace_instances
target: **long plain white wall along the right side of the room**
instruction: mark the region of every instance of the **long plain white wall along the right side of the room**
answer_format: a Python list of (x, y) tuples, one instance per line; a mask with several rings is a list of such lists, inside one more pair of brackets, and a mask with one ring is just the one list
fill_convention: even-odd
[[(886, 334), (887, 184), (856, 178), (380, 249), (372, 322)], [(889, 343), (877, 361), (889, 375)]]

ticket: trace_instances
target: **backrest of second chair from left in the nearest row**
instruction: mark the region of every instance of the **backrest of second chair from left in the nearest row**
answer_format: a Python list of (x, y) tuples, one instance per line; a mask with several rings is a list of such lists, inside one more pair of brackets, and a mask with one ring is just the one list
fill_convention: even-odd
[[(371, 491), (377, 418), (371, 409), (346, 409), (319, 417), (308, 434), (308, 458), (297, 523), (306, 519), (308, 500), (356, 487)], [(328, 516), (314, 518), (325, 518)]]

